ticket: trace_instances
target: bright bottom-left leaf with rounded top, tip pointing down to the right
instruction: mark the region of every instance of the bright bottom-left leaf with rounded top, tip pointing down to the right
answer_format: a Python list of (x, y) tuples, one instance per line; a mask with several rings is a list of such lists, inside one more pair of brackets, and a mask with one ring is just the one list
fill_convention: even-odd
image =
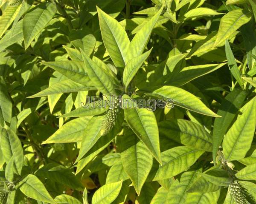
[(32, 174), (29, 174), (22, 181), (19, 182), (20, 191), (24, 193), (29, 198), (33, 198), (37, 201), (43, 201), (47, 203), (56, 204), (52, 199), (51, 195), (48, 193), (44, 184)]

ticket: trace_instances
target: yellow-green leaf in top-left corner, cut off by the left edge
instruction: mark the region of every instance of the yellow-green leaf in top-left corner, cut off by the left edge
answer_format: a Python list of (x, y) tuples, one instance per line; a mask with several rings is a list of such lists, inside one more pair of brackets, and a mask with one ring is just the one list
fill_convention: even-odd
[(15, 20), (15, 17), (20, 11), (19, 6), (8, 6), (4, 10), (3, 14), (0, 16), (0, 37), (3, 36), (4, 32), (9, 28), (12, 22)]

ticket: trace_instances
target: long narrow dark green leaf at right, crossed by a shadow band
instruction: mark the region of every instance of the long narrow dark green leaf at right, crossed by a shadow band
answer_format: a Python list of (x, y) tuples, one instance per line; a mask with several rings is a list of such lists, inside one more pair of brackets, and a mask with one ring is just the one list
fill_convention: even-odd
[(214, 162), (223, 136), (230, 127), (245, 97), (246, 92), (236, 88), (230, 92), (221, 103), (221, 107), (217, 112), (221, 118), (215, 118), (212, 132), (212, 156)]

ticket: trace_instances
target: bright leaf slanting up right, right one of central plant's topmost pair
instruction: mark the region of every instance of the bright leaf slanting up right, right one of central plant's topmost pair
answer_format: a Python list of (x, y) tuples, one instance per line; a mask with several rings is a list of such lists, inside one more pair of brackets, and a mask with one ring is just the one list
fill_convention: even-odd
[(143, 53), (145, 46), (148, 43), (151, 32), (157, 23), (157, 20), (162, 13), (163, 6), (159, 9), (157, 14), (155, 14), (144, 26), (137, 32), (128, 48), (128, 53), (126, 57), (126, 62), (129, 62), (134, 57), (137, 57)]

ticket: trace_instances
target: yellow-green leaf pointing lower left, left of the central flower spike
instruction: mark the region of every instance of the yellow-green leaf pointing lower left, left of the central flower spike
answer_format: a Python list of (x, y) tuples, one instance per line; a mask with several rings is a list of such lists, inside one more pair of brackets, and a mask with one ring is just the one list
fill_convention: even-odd
[(90, 117), (81, 117), (67, 122), (42, 144), (80, 142)]

